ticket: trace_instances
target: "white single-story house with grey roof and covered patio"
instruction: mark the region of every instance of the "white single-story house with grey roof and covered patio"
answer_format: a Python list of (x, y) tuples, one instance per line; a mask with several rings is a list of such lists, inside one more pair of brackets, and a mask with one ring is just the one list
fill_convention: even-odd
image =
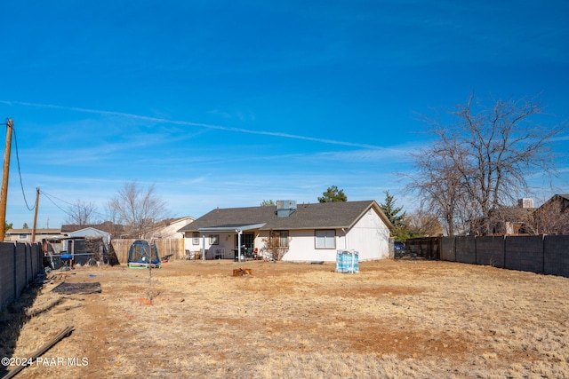
[(389, 257), (393, 225), (376, 201), (276, 204), (213, 209), (180, 229), (185, 249), (192, 254), (205, 249), (207, 259), (234, 258), (236, 249), (262, 254), (263, 238), (272, 231), (288, 249), (285, 261), (333, 262), (337, 250), (355, 250), (360, 261)]

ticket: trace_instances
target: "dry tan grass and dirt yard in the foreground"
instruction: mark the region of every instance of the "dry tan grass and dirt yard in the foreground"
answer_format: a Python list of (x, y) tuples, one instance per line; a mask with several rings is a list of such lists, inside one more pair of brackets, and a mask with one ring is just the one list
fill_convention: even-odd
[[(0, 355), (16, 363), (73, 326), (17, 377), (569, 377), (568, 278), (413, 260), (334, 270), (174, 261), (152, 270), (151, 303), (145, 269), (50, 275), (0, 315)], [(64, 281), (101, 292), (52, 292)]]

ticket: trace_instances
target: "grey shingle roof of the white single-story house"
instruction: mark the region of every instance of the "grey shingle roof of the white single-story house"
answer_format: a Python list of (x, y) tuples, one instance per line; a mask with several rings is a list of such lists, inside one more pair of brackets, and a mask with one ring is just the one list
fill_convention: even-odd
[(276, 206), (213, 209), (179, 232), (197, 232), (199, 229), (219, 226), (265, 224), (261, 230), (278, 229), (341, 229), (349, 228), (368, 209), (375, 209), (383, 222), (392, 227), (375, 201), (341, 201), (298, 204), (289, 217), (277, 217)]

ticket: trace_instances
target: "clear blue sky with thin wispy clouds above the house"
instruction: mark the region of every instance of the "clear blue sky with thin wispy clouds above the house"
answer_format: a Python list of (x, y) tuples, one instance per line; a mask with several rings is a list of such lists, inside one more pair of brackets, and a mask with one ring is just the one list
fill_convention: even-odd
[[(538, 96), (542, 122), (569, 119), (564, 1), (48, 3), (0, 5), (0, 115), (28, 205), (49, 195), (38, 227), (76, 200), (102, 221), (132, 180), (172, 217), (316, 202), (329, 186), (354, 201), (389, 190), (412, 211), (397, 172), (429, 142), (418, 114), (475, 91)], [(31, 226), (15, 150), (6, 220)], [(566, 155), (557, 168), (536, 200), (569, 192)]]

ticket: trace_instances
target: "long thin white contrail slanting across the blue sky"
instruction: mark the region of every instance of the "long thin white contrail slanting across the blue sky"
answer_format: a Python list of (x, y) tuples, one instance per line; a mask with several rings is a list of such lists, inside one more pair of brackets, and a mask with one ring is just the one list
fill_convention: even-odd
[(90, 113), (90, 114), (108, 114), (108, 115), (116, 115), (122, 117), (129, 117), (138, 120), (144, 121), (151, 121), (151, 122), (163, 122), (163, 123), (172, 123), (175, 125), (187, 125), (187, 126), (198, 126), (202, 128), (214, 129), (214, 130), (227, 130), (227, 131), (236, 131), (239, 133), (249, 133), (249, 134), (260, 134), (263, 136), (273, 136), (273, 137), (284, 137), (284, 138), (294, 138), (294, 139), (303, 139), (307, 141), (314, 141), (320, 142), (323, 144), (332, 144), (332, 145), (342, 145), (342, 146), (353, 146), (353, 147), (361, 147), (366, 149), (374, 149), (374, 150), (384, 150), (387, 149), (386, 147), (381, 146), (373, 146), (367, 144), (357, 144), (353, 142), (346, 142), (346, 141), (338, 141), (335, 139), (325, 139), (325, 138), (315, 138), (315, 137), (307, 137), (307, 136), (299, 136), (296, 134), (289, 134), (279, 131), (266, 131), (266, 130), (250, 130), (250, 129), (242, 129), (242, 128), (228, 128), (227, 126), (220, 126), (220, 125), (212, 125), (209, 123), (199, 123), (199, 122), (188, 122), (188, 121), (178, 121), (178, 120), (168, 120), (164, 118), (158, 117), (150, 117), (145, 115), (139, 114), (128, 114), (124, 112), (115, 112), (115, 111), (102, 111), (97, 109), (86, 109), (80, 107), (63, 107), (63, 106), (54, 106), (51, 104), (36, 104), (36, 103), (28, 103), (23, 101), (5, 101), (0, 100), (0, 103), (6, 104), (9, 106), (12, 105), (19, 105), (24, 107), (42, 107), (42, 108), (52, 108), (52, 109), (63, 109), (68, 111), (74, 112), (81, 112), (81, 113)]

